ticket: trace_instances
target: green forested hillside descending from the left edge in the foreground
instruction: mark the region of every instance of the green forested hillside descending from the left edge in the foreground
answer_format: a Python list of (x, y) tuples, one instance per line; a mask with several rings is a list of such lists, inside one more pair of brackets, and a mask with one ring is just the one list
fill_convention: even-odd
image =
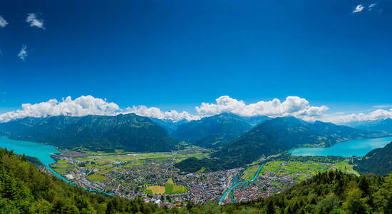
[(109, 198), (41, 173), (25, 156), (0, 148), (0, 213), (153, 213), (156, 205)]

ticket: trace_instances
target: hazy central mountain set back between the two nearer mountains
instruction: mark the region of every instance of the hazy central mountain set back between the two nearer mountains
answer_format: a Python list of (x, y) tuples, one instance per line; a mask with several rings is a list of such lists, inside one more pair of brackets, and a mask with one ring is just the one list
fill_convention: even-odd
[(182, 124), (177, 127), (172, 136), (196, 146), (217, 148), (232, 141), (251, 127), (240, 116), (222, 113)]

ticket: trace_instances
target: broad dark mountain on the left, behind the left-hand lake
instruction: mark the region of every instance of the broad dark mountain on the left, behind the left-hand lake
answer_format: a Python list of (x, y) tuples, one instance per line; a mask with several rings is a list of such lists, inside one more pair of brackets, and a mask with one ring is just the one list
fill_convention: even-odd
[(0, 134), (60, 148), (91, 151), (170, 151), (177, 143), (164, 128), (135, 114), (24, 118), (0, 124)]

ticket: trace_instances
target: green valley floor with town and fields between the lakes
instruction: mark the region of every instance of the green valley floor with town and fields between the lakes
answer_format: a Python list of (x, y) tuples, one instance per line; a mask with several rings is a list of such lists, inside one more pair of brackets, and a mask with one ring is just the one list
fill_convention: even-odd
[(232, 185), (252, 179), (261, 163), (264, 166), (257, 179), (230, 191), (222, 204), (265, 198), (326, 170), (338, 169), (359, 175), (347, 158), (294, 157), (288, 154), (259, 160), (247, 168), (210, 173), (185, 174), (173, 166), (185, 158), (205, 158), (210, 152), (198, 147), (170, 153), (63, 151), (53, 156), (56, 163), (51, 168), (83, 188), (128, 199), (142, 197), (145, 202), (167, 206), (182, 205), (187, 200), (218, 202)]

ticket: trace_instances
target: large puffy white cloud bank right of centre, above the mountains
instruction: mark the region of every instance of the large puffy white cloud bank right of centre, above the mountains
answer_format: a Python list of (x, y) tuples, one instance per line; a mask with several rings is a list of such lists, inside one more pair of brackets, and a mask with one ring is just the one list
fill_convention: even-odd
[(298, 96), (288, 96), (283, 102), (274, 98), (272, 101), (259, 101), (246, 104), (229, 96), (221, 96), (216, 103), (202, 103), (196, 107), (200, 116), (213, 116), (219, 113), (234, 113), (239, 116), (295, 116), (304, 120), (314, 120), (329, 108), (326, 106), (310, 106), (309, 101)]

